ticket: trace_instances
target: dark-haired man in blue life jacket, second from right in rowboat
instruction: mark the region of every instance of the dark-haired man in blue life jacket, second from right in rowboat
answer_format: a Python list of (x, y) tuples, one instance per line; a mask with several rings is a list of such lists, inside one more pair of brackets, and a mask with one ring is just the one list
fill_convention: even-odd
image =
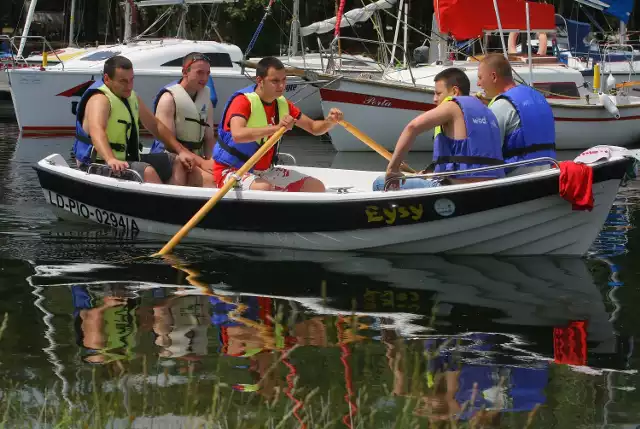
[(477, 173), (462, 172), (443, 179), (400, 180), (403, 177), (400, 165), (413, 142), (419, 134), (432, 128), (436, 128), (432, 163), (436, 173), (503, 164), (498, 122), (480, 100), (469, 96), (471, 83), (467, 75), (460, 69), (448, 68), (438, 73), (434, 81), (433, 101), (437, 106), (409, 122), (402, 131), (387, 166), (386, 176), (375, 180), (374, 191), (383, 190), (386, 180), (390, 180), (388, 189), (414, 189), (504, 177), (503, 169), (494, 169)]

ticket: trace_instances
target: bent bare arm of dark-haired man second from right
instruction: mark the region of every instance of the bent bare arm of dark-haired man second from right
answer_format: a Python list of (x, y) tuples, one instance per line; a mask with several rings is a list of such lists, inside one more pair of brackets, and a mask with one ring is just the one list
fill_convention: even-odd
[(396, 143), (393, 156), (387, 167), (387, 172), (400, 171), (400, 164), (402, 164), (407, 152), (409, 152), (411, 146), (413, 146), (416, 137), (438, 125), (443, 125), (451, 121), (455, 113), (453, 109), (456, 108), (458, 108), (456, 103), (443, 103), (428, 112), (424, 112), (409, 122)]

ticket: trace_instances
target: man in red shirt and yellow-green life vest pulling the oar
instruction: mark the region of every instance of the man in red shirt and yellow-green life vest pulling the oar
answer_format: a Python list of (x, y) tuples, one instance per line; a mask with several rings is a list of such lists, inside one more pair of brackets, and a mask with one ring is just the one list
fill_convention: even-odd
[[(324, 120), (312, 120), (284, 98), (287, 82), (284, 64), (274, 57), (260, 60), (256, 67), (256, 84), (231, 95), (218, 126), (218, 141), (213, 149), (213, 176), (222, 187), (240, 169), (261, 144), (281, 127), (294, 125), (315, 136), (322, 135), (342, 120), (338, 109), (331, 109)], [(324, 184), (295, 170), (275, 166), (277, 146), (269, 150), (243, 177), (243, 190), (324, 192)]]

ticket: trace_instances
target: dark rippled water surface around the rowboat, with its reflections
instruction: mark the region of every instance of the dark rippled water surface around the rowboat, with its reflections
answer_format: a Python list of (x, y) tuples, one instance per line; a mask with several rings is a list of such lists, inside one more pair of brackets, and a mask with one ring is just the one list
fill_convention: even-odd
[[(385, 166), (285, 146), (302, 165)], [(640, 424), (637, 182), (584, 259), (181, 244), (174, 261), (132, 260), (166, 237), (48, 210), (32, 165), (70, 147), (0, 124), (7, 427)]]

